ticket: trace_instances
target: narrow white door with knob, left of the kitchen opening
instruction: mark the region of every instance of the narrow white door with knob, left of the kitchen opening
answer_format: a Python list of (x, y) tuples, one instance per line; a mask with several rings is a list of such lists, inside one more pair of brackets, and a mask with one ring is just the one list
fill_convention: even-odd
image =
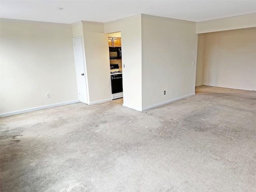
[(87, 104), (86, 74), (84, 70), (82, 38), (74, 38), (74, 54), (79, 101)]

